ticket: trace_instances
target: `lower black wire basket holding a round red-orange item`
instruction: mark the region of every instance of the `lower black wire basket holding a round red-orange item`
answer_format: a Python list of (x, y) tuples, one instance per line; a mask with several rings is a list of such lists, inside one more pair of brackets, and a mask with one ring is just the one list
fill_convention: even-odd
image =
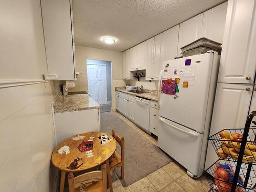
[[(222, 166), (221, 166), (221, 165)], [(236, 186), (236, 192), (243, 191), (254, 191), (256, 175), (254, 170), (256, 166), (252, 165), (251, 172), (247, 183), (245, 183), (245, 178), (247, 174), (249, 164), (243, 164), (239, 173), (239, 180)], [(234, 171), (236, 170), (237, 162), (232, 160), (218, 160), (212, 166), (210, 166), (203, 175), (206, 177), (207, 182), (210, 186), (209, 191), (220, 191), (229, 192), (231, 191), (232, 179), (234, 176)], [(248, 177), (248, 176), (247, 176)]]

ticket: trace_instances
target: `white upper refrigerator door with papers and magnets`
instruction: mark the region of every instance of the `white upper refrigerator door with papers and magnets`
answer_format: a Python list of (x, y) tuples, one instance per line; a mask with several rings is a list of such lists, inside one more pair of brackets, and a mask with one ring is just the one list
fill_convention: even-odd
[[(178, 69), (178, 72), (175, 77), (180, 77), (179, 71), (184, 69), (186, 60), (191, 59), (190, 66), (195, 66), (195, 76), (194, 81), (188, 81), (187, 88), (183, 88), (182, 80), (180, 80), (178, 83), (179, 93), (177, 93), (179, 97), (176, 99), (174, 95), (160, 92), (160, 116), (189, 127), (197, 132), (204, 132), (210, 83), (214, 84), (213, 87), (216, 85), (216, 80), (211, 81), (213, 58), (213, 53), (206, 53), (184, 57), (170, 62), (166, 61), (166, 63), (176, 64), (175, 68)], [(164, 64), (165, 62), (163, 63), (163, 68)], [(217, 74), (215, 74), (215, 76), (217, 76)], [(165, 74), (163, 78), (167, 78)], [(172, 80), (175, 80), (173, 78)], [(190, 82), (194, 82), (194, 84), (191, 85)], [(210, 102), (212, 102), (212, 99)]]

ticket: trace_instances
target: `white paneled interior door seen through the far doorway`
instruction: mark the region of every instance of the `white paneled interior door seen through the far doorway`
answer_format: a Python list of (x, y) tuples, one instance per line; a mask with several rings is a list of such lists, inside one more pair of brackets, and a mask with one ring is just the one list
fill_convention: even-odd
[(90, 96), (99, 104), (107, 101), (106, 65), (87, 65), (88, 91)]

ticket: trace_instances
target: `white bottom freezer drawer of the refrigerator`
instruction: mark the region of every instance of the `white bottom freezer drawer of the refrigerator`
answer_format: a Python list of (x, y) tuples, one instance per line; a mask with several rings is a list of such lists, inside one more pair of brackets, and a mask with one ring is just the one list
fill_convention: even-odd
[(162, 117), (159, 120), (157, 145), (189, 172), (198, 176), (203, 134)]

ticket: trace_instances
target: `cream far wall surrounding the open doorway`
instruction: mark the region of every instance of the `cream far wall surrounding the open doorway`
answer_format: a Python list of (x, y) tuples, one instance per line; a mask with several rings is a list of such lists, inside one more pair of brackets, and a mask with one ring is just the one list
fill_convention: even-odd
[(122, 52), (75, 46), (76, 70), (87, 76), (87, 59), (111, 61), (112, 63), (112, 108), (115, 109), (115, 86), (125, 86), (122, 80)]

